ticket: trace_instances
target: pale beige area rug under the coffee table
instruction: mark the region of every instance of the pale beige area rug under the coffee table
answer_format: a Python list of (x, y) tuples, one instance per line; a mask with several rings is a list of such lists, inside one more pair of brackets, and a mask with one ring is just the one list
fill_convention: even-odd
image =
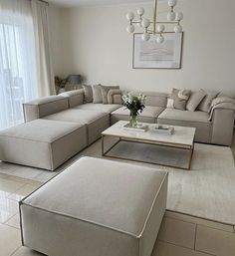
[[(179, 165), (186, 159), (182, 151), (170, 152), (166, 148), (147, 148), (143, 145), (128, 143), (119, 144), (111, 153), (131, 155), (138, 159), (158, 158), (163, 162)], [(101, 140), (77, 154), (54, 172), (0, 162), (0, 173), (45, 182), (66, 169), (82, 155), (102, 157)], [(139, 162), (135, 164), (169, 171), (168, 210), (235, 224), (235, 166), (230, 147), (196, 143), (191, 170)]]

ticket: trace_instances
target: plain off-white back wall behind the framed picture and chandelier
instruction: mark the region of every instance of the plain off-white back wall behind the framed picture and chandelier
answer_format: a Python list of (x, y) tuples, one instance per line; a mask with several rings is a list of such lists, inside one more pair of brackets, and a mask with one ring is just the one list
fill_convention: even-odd
[[(63, 68), (56, 62), (56, 70), (63, 69), (65, 75), (80, 73), (88, 83), (119, 85), (121, 89), (169, 92), (172, 87), (203, 88), (235, 96), (235, 1), (178, 2), (185, 32), (181, 70), (131, 68), (132, 36), (125, 32), (125, 13), (142, 6), (151, 17), (151, 3), (64, 9)], [(160, 5), (165, 16), (166, 2)]]

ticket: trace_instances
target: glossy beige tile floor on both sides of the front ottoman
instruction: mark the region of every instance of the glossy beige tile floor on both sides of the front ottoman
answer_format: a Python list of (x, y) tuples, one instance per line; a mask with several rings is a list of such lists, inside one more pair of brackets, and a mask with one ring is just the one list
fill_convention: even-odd
[[(235, 139), (232, 149), (235, 155)], [(40, 185), (0, 174), (0, 256), (42, 255), (21, 246), (18, 210), (18, 201)], [(166, 211), (152, 256), (211, 255), (235, 256), (234, 226)]]

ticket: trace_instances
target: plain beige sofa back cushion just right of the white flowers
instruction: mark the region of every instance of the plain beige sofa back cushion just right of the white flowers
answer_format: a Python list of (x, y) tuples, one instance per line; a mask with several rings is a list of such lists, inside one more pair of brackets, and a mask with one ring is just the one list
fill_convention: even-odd
[(165, 108), (167, 103), (167, 94), (155, 92), (131, 92), (131, 94), (141, 94), (146, 96), (146, 106)]

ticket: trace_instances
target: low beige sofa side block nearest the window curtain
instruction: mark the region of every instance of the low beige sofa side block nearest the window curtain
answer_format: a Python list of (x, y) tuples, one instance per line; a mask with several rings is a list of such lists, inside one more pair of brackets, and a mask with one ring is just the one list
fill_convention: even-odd
[(69, 100), (61, 96), (39, 98), (23, 104), (25, 122), (41, 119), (67, 109), (69, 109)]

